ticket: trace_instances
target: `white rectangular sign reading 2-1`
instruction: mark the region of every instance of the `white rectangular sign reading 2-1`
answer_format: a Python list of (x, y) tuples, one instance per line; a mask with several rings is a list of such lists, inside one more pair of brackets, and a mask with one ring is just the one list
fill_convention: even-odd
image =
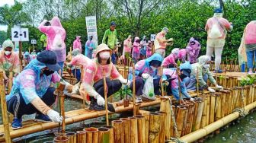
[(12, 41), (29, 41), (27, 28), (11, 28)]

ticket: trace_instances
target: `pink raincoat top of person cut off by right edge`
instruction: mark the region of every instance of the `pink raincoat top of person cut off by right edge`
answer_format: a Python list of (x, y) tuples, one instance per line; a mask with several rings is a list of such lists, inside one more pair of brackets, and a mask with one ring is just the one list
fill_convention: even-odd
[(245, 27), (245, 44), (256, 44), (256, 21), (251, 21)]

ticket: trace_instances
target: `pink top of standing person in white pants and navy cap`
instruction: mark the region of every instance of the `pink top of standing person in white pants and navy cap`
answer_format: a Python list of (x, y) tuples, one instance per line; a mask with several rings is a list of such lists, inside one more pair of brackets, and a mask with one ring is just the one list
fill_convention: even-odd
[[(218, 22), (219, 21), (219, 22)], [(206, 26), (205, 29), (207, 30), (207, 32), (213, 27), (213, 24), (217, 24), (219, 27), (219, 31), (220, 33), (222, 33), (222, 36), (219, 37), (218, 39), (226, 39), (226, 30), (231, 30), (231, 24), (229, 23), (228, 20), (226, 20), (225, 18), (222, 17), (210, 17), (207, 22), (206, 22)], [(222, 26), (220, 26), (220, 24)], [(223, 29), (224, 28), (224, 29)], [(209, 32), (208, 32), (209, 34)], [(208, 37), (209, 39), (210, 37)]]

